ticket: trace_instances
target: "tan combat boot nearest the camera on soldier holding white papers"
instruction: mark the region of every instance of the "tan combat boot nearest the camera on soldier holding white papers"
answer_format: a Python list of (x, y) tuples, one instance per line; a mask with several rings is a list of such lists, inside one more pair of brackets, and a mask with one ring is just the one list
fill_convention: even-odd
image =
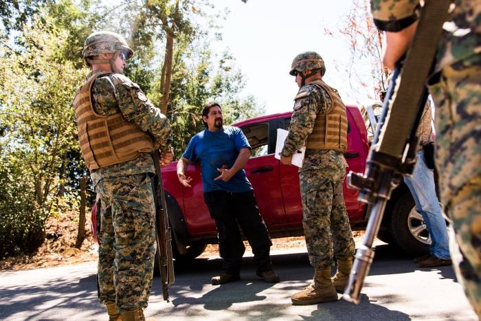
[(337, 300), (337, 292), (331, 281), (331, 267), (315, 268), (313, 283), (293, 294), (293, 305), (313, 305)]

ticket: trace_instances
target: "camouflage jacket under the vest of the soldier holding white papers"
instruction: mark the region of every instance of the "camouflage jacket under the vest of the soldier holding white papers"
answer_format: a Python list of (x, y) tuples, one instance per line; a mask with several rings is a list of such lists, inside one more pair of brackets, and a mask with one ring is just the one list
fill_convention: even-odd
[[(327, 113), (333, 106), (333, 102), (324, 89), (313, 84), (303, 86), (295, 99), (294, 110), (289, 124), (283, 156), (291, 156), (304, 146), (307, 137), (312, 133), (317, 115)], [(326, 164), (335, 164), (335, 167), (346, 167), (346, 160), (342, 153), (319, 149), (307, 149), (304, 156), (304, 164), (301, 170), (322, 169)], [(344, 170), (343, 168), (343, 170)], [(328, 173), (326, 173), (328, 174)]]

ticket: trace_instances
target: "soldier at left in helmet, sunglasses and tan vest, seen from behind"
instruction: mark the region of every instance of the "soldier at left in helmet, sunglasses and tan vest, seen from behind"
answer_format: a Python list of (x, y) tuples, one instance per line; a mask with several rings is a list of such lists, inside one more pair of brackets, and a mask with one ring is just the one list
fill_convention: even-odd
[(82, 157), (100, 199), (99, 298), (109, 320), (145, 320), (155, 255), (151, 153), (173, 157), (166, 116), (123, 71), (133, 55), (113, 32), (87, 37), (92, 68), (74, 100)]

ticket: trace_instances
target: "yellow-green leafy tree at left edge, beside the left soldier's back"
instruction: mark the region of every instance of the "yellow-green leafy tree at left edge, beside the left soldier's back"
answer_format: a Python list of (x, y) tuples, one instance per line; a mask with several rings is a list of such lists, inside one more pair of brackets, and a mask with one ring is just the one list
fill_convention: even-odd
[[(47, 16), (20, 36), (21, 52), (0, 51), (0, 234), (8, 241), (0, 256), (30, 252), (41, 241), (43, 223), (65, 180), (59, 169), (78, 150), (71, 100), (87, 69), (76, 69), (63, 49), (68, 34)], [(5, 251), (5, 252), (3, 252)]]

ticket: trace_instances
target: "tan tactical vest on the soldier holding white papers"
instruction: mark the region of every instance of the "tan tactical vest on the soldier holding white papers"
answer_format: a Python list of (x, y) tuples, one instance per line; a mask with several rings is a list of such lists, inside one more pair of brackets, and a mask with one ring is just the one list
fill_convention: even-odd
[(339, 94), (322, 80), (310, 82), (326, 90), (333, 102), (333, 106), (327, 113), (317, 115), (314, 129), (307, 137), (307, 148), (329, 149), (333, 151), (346, 152), (348, 146), (348, 118), (346, 106)]

